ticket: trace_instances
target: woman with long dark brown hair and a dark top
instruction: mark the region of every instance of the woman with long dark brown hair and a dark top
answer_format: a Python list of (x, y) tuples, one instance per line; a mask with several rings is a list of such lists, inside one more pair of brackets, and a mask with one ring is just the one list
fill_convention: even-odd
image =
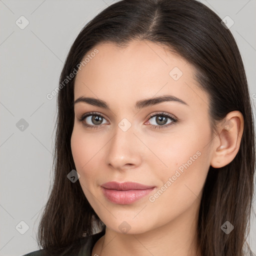
[(42, 249), (26, 255), (246, 254), (253, 116), (213, 11), (116, 2), (78, 34), (59, 82)]

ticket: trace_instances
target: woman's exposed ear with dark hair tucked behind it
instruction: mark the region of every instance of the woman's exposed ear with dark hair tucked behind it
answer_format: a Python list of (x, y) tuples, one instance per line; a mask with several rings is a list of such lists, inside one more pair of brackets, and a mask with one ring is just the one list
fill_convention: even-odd
[(243, 133), (243, 115), (240, 111), (229, 112), (218, 127), (210, 165), (220, 168), (231, 162), (237, 154)]

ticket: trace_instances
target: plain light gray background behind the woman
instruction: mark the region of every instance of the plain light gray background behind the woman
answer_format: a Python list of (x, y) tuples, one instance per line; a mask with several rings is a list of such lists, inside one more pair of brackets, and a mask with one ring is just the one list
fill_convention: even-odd
[[(112, 2), (0, 0), (0, 256), (38, 249), (35, 236), (52, 178), (56, 118), (56, 96), (48, 100), (46, 94), (58, 85), (63, 61), (80, 29)], [(234, 21), (230, 30), (242, 55), (254, 104), (256, 0), (201, 2), (221, 18), (228, 15)], [(24, 29), (15, 23), (21, 23), (21, 15), (29, 21)], [(23, 130), (21, 118), (28, 124)], [(247, 241), (255, 253), (255, 197), (253, 200)]]

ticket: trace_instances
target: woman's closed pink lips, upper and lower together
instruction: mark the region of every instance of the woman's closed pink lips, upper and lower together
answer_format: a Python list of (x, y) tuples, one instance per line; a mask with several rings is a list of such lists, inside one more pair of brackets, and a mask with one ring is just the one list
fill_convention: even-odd
[(147, 186), (136, 182), (118, 183), (115, 181), (101, 185), (105, 197), (117, 204), (130, 204), (150, 193), (155, 186)]

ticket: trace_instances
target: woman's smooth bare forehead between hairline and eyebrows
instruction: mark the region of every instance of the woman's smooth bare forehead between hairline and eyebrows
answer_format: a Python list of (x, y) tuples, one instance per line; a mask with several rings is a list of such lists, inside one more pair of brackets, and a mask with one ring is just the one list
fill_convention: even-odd
[(191, 102), (206, 97), (194, 79), (195, 68), (150, 41), (133, 40), (126, 47), (100, 43), (85, 58), (75, 78), (74, 99), (86, 95), (121, 103), (172, 94)]

